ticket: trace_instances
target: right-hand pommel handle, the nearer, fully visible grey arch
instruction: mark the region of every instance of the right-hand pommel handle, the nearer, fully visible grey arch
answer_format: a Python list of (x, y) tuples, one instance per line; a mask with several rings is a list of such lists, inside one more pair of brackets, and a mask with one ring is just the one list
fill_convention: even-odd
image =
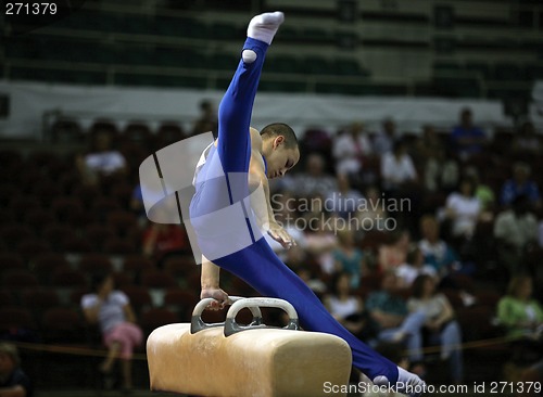
[(250, 323), (249, 325), (238, 324), (236, 322), (236, 316), (238, 316), (238, 312), (245, 307), (249, 308), (251, 311), (253, 308), (258, 308), (258, 307), (275, 307), (278, 309), (282, 309), (289, 316), (289, 322), (286, 326), (283, 326), (283, 329), (298, 330), (300, 328), (298, 323), (298, 312), (294, 309), (294, 307), (287, 300), (278, 298), (268, 298), (268, 297), (243, 298), (236, 300), (232, 304), (232, 306), (230, 306), (230, 309), (226, 315), (225, 336), (230, 336), (237, 332), (244, 330), (252, 330), (255, 328), (268, 328), (262, 323), (258, 324)]

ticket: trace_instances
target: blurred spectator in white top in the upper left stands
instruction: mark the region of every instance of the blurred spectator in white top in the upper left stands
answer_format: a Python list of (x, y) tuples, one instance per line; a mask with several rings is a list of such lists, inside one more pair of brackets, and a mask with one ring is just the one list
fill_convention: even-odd
[(125, 175), (126, 158), (113, 148), (113, 133), (97, 130), (92, 136), (89, 152), (76, 156), (76, 167), (85, 183), (97, 183), (101, 176)]

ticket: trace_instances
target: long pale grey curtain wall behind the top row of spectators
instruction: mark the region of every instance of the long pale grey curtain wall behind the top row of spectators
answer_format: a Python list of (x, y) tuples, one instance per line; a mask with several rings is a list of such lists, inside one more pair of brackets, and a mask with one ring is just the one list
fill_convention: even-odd
[[(541, 85), (540, 85), (541, 86)], [(538, 92), (541, 93), (540, 88)], [(178, 89), (76, 87), (0, 80), (0, 94), (10, 98), (10, 115), (0, 120), (0, 138), (40, 138), (43, 115), (51, 112), (75, 115), (85, 124), (97, 117), (112, 118), (119, 128), (129, 120), (147, 120), (151, 127), (162, 120), (178, 120), (190, 128), (199, 115), (199, 103), (211, 99), (218, 106), (223, 92)], [(543, 94), (540, 94), (543, 102)], [(351, 121), (363, 121), (379, 130), (392, 117), (400, 131), (418, 132), (424, 124), (449, 128), (459, 111), (470, 106), (477, 125), (489, 131), (495, 125), (509, 126), (497, 101), (438, 98), (376, 98), (292, 93), (258, 93), (253, 126), (290, 124), (298, 132), (320, 127), (336, 131)]]

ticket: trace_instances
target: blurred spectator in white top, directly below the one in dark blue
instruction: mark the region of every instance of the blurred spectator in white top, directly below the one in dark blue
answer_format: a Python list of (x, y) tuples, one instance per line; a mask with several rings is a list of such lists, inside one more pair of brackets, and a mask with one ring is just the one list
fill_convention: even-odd
[(451, 221), (454, 238), (471, 239), (482, 213), (481, 202), (475, 195), (471, 178), (463, 178), (458, 191), (451, 193), (445, 203), (445, 217)]

